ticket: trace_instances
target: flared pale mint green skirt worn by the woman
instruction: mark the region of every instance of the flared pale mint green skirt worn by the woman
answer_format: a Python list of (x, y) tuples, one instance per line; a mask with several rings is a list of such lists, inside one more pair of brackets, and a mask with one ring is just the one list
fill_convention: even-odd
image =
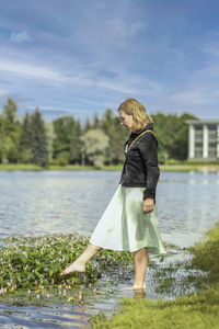
[(147, 247), (149, 253), (165, 253), (158, 227), (157, 208), (143, 214), (143, 190), (119, 184), (90, 242), (111, 250), (132, 252)]

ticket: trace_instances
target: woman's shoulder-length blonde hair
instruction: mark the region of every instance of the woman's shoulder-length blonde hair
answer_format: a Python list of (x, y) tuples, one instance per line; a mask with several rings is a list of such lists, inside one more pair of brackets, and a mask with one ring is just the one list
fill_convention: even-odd
[(134, 117), (132, 132), (142, 129), (147, 124), (152, 123), (152, 118), (147, 114), (146, 107), (136, 99), (127, 99), (119, 106), (118, 112), (124, 111)]

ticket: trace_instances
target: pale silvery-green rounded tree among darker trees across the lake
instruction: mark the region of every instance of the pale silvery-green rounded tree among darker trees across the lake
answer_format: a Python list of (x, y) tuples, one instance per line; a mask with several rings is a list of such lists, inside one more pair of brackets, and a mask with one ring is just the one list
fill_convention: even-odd
[(83, 149), (90, 164), (101, 168), (106, 160), (105, 151), (108, 146), (108, 136), (102, 129), (90, 129), (82, 137)]

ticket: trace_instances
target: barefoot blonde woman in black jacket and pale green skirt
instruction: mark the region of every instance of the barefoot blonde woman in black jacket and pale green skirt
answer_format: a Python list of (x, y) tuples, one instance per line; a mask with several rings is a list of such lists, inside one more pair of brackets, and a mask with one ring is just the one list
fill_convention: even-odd
[(131, 134), (125, 144), (126, 160), (119, 185), (95, 227), (83, 253), (60, 276), (85, 272), (87, 262), (102, 248), (134, 252), (134, 291), (146, 290), (148, 252), (165, 253), (155, 209), (160, 175), (158, 140), (146, 109), (135, 99), (118, 107), (120, 124)]

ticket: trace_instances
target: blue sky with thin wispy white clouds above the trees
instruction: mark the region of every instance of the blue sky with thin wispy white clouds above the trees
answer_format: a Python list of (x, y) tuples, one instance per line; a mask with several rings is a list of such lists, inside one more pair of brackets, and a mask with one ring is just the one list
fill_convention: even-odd
[(0, 109), (84, 122), (136, 98), (219, 118), (219, 1), (0, 0)]

